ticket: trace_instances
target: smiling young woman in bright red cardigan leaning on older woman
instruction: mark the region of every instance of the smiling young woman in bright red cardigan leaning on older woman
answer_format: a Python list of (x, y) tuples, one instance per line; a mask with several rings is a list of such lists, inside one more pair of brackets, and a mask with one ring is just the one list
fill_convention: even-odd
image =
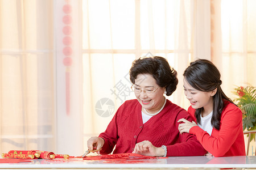
[(207, 59), (191, 62), (184, 71), (184, 92), (191, 103), (189, 122), (181, 118), (180, 133), (191, 133), (208, 155), (245, 155), (242, 112), (221, 90), (220, 72)]

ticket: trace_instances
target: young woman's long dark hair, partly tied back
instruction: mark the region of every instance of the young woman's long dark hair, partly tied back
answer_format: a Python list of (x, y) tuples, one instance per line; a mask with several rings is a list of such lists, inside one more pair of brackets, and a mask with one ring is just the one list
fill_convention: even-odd
[[(185, 80), (193, 88), (199, 91), (213, 91), (217, 88), (216, 94), (213, 96), (213, 114), (210, 121), (213, 128), (220, 130), (221, 113), (224, 108), (224, 101), (233, 101), (227, 97), (221, 89), (221, 75), (217, 67), (207, 59), (197, 59), (190, 63), (183, 74)], [(203, 108), (196, 109), (195, 117), (197, 123), (201, 123), (201, 112)]]

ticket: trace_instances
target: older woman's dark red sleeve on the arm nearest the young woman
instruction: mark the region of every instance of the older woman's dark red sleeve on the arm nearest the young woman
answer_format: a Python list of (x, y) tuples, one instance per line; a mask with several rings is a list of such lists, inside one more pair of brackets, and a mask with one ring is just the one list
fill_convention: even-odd
[[(178, 128), (179, 124), (177, 121), (180, 118), (185, 118), (188, 121), (192, 121), (191, 116), (186, 111), (180, 112), (176, 117), (175, 128)], [(206, 150), (197, 141), (195, 135), (189, 133), (183, 133), (178, 135), (179, 142), (174, 145), (167, 146), (167, 156), (202, 156), (206, 154)]]

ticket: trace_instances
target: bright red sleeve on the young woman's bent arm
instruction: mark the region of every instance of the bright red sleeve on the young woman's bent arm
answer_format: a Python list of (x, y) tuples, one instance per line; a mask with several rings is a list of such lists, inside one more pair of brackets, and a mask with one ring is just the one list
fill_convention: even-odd
[(224, 156), (236, 141), (241, 128), (242, 112), (234, 104), (228, 104), (221, 114), (220, 131), (217, 137), (210, 136), (206, 131), (194, 126), (189, 133), (196, 135), (203, 147), (213, 156)]

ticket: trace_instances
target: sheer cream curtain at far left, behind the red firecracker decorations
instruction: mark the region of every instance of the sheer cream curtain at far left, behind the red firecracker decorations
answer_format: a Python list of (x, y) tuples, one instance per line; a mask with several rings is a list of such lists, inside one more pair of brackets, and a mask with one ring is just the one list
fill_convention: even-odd
[(0, 1), (0, 152), (55, 151), (51, 1)]

